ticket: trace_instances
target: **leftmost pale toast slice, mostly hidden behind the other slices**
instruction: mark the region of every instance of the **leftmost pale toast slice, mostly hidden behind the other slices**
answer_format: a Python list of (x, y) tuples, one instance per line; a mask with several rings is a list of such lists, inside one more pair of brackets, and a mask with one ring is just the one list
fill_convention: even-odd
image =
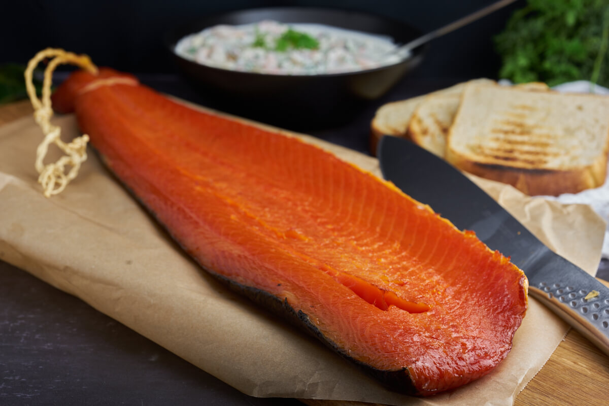
[[(490, 79), (474, 79), (470, 82), (495, 83)], [(410, 119), (421, 102), (427, 97), (439, 94), (456, 94), (460, 96), (465, 85), (470, 82), (457, 83), (454, 86), (429, 93), (428, 95), (382, 105), (376, 111), (375, 117), (370, 124), (370, 152), (372, 155), (376, 155), (376, 144), (378, 144), (384, 135), (409, 138), (408, 127)]]

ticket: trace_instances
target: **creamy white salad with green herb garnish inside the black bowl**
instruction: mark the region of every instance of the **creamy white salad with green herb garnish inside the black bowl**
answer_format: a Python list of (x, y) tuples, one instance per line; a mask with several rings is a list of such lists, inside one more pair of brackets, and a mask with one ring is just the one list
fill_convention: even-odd
[(363, 71), (392, 65), (389, 37), (322, 24), (261, 21), (219, 25), (182, 38), (175, 52), (183, 58), (232, 71), (277, 75), (319, 75)]

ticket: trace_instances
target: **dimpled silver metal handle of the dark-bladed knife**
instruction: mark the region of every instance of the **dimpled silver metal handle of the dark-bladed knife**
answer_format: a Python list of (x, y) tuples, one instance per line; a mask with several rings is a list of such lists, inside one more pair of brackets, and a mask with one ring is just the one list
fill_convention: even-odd
[(601, 284), (607, 282), (590, 279), (596, 284), (540, 282), (529, 293), (609, 356), (609, 287)]

